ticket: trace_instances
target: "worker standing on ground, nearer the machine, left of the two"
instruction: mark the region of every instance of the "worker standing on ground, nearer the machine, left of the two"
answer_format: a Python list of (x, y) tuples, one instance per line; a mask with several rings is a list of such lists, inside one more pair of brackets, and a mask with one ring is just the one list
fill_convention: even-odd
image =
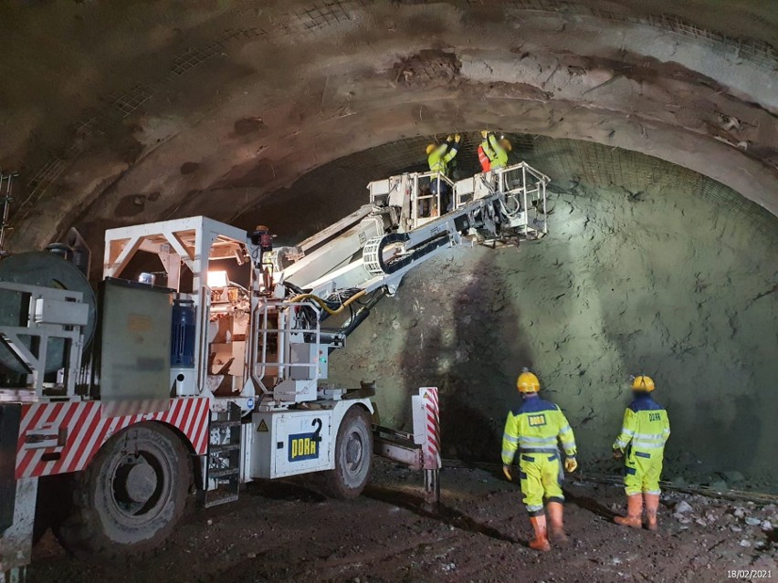
[(552, 402), (538, 396), (541, 383), (529, 370), (524, 371), (516, 380), (516, 387), (522, 397), (522, 403), (516, 411), (508, 413), (505, 432), (502, 436), (502, 472), (509, 480), (510, 463), (520, 448), (519, 478), (524, 505), (530, 514), (535, 537), (530, 547), (539, 551), (551, 550), (549, 533), (546, 527), (546, 515), (543, 513), (543, 500), (546, 502), (551, 539), (558, 545), (567, 543), (562, 522), (562, 460), (557, 440), (562, 442), (566, 458), (564, 469), (574, 472), (578, 467), (575, 461), (575, 437), (564, 413)]

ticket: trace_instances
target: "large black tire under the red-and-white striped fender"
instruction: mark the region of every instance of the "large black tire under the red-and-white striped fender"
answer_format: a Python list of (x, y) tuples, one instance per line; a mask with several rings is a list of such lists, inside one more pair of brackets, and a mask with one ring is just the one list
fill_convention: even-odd
[(184, 514), (192, 467), (184, 443), (159, 423), (138, 423), (106, 442), (76, 474), (59, 542), (83, 558), (142, 556)]

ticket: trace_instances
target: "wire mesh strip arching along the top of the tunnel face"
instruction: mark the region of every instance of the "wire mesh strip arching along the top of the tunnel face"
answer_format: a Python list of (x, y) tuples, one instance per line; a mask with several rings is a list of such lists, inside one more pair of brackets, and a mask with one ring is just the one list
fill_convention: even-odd
[[(590, 187), (623, 187), (636, 193), (648, 189), (683, 189), (737, 213), (752, 228), (778, 240), (778, 217), (756, 203), (699, 172), (636, 151), (613, 148), (592, 141), (559, 140), (523, 133), (507, 133), (513, 144), (511, 161), (527, 161), (552, 178), (552, 190), (579, 182)], [(446, 139), (445, 134), (417, 136), (386, 143), (324, 164), (295, 182), (293, 194), (315, 193), (321, 184), (338, 184), (345, 197), (366, 201), (368, 182), (402, 172), (426, 171), (426, 145)], [(480, 172), (478, 132), (462, 134), (454, 166), (455, 178)], [(270, 196), (272, 199), (272, 195)]]

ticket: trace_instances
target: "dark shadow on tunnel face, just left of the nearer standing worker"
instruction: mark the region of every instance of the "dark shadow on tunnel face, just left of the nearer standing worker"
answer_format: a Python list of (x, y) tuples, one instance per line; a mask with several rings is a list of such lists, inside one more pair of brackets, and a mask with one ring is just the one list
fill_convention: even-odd
[[(474, 277), (449, 301), (453, 307), (454, 335), (449, 346), (441, 326), (426, 326), (424, 347), (406, 350), (401, 361), (405, 393), (436, 385), (440, 394), (441, 447), (444, 457), (463, 461), (498, 461), (503, 423), (507, 412), (519, 405), (515, 376), (521, 367), (532, 367), (531, 351), (520, 336), (520, 314), (512, 298), (502, 297), (504, 279), (490, 252), (468, 273)], [(440, 269), (444, 271), (444, 269)], [(436, 276), (439, 276), (436, 274)], [(446, 287), (449, 275), (438, 285)], [(408, 331), (406, 345), (416, 343), (418, 333)], [(452, 364), (439, 371), (441, 360)], [(486, 405), (486, 406), (485, 406)]]

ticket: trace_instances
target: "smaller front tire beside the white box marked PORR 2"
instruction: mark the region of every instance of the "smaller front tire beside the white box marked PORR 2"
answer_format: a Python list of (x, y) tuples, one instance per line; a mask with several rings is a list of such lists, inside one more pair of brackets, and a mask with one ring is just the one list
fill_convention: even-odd
[(324, 472), (324, 487), (333, 498), (362, 494), (370, 480), (373, 432), (370, 414), (358, 405), (346, 411), (335, 441), (335, 469)]

